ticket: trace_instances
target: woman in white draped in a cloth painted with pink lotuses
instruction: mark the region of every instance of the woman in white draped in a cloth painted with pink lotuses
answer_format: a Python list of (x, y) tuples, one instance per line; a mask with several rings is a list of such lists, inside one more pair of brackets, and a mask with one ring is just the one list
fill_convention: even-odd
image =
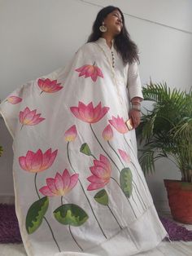
[(123, 13), (106, 7), (66, 68), (1, 104), (28, 255), (129, 256), (166, 236), (125, 125), (140, 122), (137, 61)]

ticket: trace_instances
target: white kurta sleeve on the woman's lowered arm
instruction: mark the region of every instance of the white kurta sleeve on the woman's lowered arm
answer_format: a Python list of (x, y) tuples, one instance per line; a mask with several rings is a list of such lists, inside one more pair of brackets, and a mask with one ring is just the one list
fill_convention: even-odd
[(142, 83), (138, 73), (137, 62), (135, 61), (132, 64), (129, 64), (127, 86), (128, 86), (130, 100), (133, 99), (134, 97), (140, 97), (143, 99)]

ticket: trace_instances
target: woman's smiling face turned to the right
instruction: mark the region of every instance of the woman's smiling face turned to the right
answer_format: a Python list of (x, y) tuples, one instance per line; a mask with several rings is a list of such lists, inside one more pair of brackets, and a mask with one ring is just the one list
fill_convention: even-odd
[(119, 34), (123, 28), (123, 21), (120, 11), (115, 10), (109, 13), (104, 19), (104, 24), (107, 27), (107, 32), (111, 32), (115, 35)]

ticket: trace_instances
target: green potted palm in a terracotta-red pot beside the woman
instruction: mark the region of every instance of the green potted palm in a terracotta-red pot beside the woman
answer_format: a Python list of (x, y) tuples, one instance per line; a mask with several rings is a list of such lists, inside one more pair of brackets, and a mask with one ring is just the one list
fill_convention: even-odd
[(167, 157), (181, 171), (181, 180), (164, 180), (172, 217), (192, 223), (192, 90), (171, 90), (166, 83), (143, 88), (144, 100), (153, 103), (142, 115), (137, 135), (144, 142), (140, 163), (144, 173)]

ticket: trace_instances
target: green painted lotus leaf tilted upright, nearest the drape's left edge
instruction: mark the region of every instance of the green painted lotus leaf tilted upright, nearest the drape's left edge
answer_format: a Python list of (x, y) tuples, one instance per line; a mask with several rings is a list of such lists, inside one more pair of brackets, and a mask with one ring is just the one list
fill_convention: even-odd
[(46, 214), (46, 210), (49, 206), (49, 199), (47, 196), (42, 197), (38, 201), (35, 201), (33, 205), (28, 209), (26, 216), (25, 227), (28, 234), (32, 234), (41, 226), (42, 219)]

